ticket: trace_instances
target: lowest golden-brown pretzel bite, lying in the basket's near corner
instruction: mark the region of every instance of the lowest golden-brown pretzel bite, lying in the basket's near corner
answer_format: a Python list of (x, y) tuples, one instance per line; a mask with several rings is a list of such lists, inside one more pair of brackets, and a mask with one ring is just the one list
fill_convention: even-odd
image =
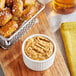
[(0, 35), (4, 37), (10, 36), (16, 29), (18, 28), (18, 24), (11, 20), (5, 26), (0, 28)]

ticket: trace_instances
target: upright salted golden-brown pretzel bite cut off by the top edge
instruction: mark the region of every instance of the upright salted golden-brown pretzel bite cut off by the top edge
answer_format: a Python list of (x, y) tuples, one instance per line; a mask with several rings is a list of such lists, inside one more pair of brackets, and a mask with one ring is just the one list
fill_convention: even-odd
[(16, 17), (20, 17), (23, 12), (23, 1), (22, 0), (14, 0), (12, 13)]

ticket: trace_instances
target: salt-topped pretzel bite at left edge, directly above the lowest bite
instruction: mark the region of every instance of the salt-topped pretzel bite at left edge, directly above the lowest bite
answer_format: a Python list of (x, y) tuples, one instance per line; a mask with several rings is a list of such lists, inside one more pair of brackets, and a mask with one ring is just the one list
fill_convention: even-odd
[(0, 26), (5, 25), (12, 18), (11, 10), (9, 8), (4, 8), (0, 12)]

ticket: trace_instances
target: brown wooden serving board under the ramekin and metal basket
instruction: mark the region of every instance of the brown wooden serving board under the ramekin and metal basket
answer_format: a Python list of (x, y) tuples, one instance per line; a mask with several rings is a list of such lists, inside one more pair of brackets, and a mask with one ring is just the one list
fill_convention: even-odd
[[(0, 48), (0, 64), (5, 76), (70, 76), (63, 56), (56, 43), (51, 28), (46, 19), (45, 12), (41, 12), (38, 17), (39, 23), (35, 24), (22, 38), (8, 50)], [(54, 64), (47, 70), (36, 72), (28, 69), (22, 59), (22, 43), (32, 34), (45, 34), (50, 36), (57, 45), (57, 52)]]

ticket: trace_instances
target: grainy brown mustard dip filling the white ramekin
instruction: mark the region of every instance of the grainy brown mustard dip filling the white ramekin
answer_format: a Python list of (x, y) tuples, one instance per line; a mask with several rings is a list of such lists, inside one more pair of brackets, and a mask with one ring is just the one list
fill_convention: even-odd
[(42, 36), (36, 36), (26, 41), (25, 54), (33, 60), (45, 60), (54, 52), (53, 43)]

